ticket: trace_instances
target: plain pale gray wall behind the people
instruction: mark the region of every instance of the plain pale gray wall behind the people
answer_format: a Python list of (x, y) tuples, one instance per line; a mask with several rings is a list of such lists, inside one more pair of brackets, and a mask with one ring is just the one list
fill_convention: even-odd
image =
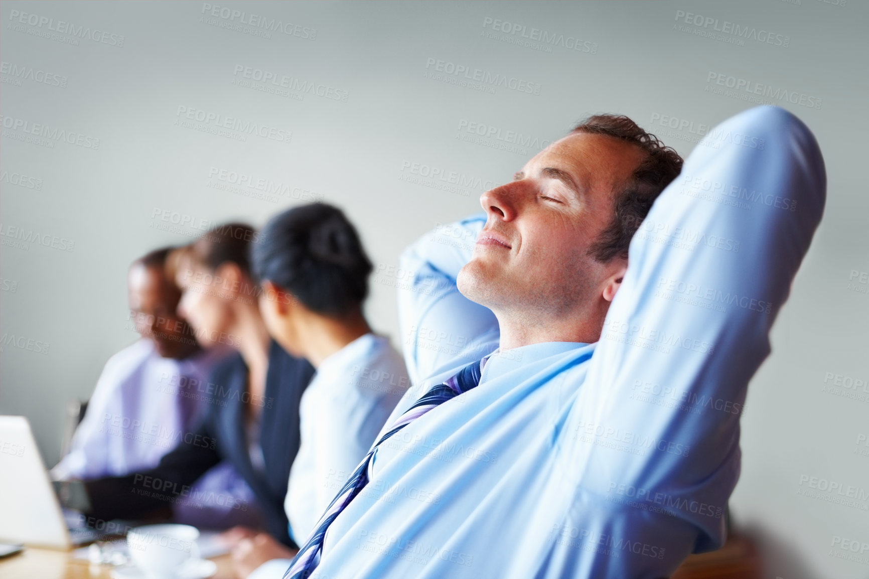
[[(232, 10), (282, 30), (265, 35)], [(90, 396), (106, 359), (136, 338), (125, 271), (144, 251), (230, 217), (261, 224), (313, 198), (336, 203), (381, 270), (368, 316), (400, 345), (401, 276), (388, 268), (401, 248), (478, 210), (482, 190), (571, 123), (625, 113), (687, 155), (700, 125), (751, 106), (746, 85), (764, 85), (754, 98), (818, 136), (829, 190), (773, 355), (749, 389), (733, 515), (760, 537), (770, 579), (869, 576), (869, 551), (855, 562), (833, 546), (869, 542), (866, 2), (3, 2), (0, 22), (0, 412), (30, 418), (48, 463), (64, 401)], [(542, 32), (554, 43), (526, 38)], [(454, 66), (471, 86), (464, 73), (452, 82)], [(289, 88), (255, 90), (245, 67)], [(474, 86), (474, 70), (516, 84)], [(216, 123), (256, 123), (266, 136), (215, 134)], [(474, 142), (472, 123), (494, 136)], [(28, 142), (25, 129), (49, 136)], [(525, 142), (510, 144), (514, 133)], [(433, 182), (413, 182), (434, 170)], [(227, 190), (222, 171), (282, 193)], [(16, 245), (21, 232), (45, 245)], [(812, 477), (856, 498), (800, 494)]]

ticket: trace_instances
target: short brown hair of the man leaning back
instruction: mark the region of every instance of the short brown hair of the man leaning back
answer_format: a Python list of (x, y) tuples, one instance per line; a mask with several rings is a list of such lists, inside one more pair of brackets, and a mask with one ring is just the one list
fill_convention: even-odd
[(640, 229), (652, 203), (679, 176), (682, 157), (624, 115), (589, 116), (571, 130), (573, 133), (613, 136), (634, 143), (646, 152), (624, 188), (616, 192), (613, 219), (588, 248), (589, 255), (599, 262), (606, 263), (616, 256), (627, 257), (631, 238)]

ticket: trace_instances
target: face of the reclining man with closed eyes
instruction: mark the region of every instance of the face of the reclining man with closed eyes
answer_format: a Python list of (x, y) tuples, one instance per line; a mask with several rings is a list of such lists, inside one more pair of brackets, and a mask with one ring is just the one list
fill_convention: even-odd
[[(514, 323), (546, 325), (593, 311), (607, 269), (587, 250), (613, 216), (614, 191), (640, 158), (633, 145), (613, 137), (568, 136), (529, 161), (518, 181), (484, 194), (488, 221), (481, 236), (494, 232), (511, 248), (475, 246), (457, 278), (461, 293)], [(569, 174), (579, 195), (541, 178), (543, 167)]]

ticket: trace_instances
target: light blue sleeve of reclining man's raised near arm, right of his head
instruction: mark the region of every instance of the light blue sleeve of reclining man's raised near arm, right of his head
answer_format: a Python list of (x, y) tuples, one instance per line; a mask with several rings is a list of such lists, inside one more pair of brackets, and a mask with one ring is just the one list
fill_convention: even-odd
[(825, 197), (811, 132), (758, 107), (713, 129), (640, 225), (560, 449), (578, 496), (645, 511), (635, 540), (724, 542), (747, 384)]

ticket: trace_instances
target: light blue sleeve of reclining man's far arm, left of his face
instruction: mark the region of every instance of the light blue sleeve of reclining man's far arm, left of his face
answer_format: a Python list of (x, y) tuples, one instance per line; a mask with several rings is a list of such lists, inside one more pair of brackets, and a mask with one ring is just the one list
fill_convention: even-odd
[(455, 285), (485, 224), (480, 214), (439, 225), (401, 254), (401, 270), (411, 282), (398, 289), (399, 323), (412, 384), (498, 347), (500, 330), (492, 310), (462, 296)]

